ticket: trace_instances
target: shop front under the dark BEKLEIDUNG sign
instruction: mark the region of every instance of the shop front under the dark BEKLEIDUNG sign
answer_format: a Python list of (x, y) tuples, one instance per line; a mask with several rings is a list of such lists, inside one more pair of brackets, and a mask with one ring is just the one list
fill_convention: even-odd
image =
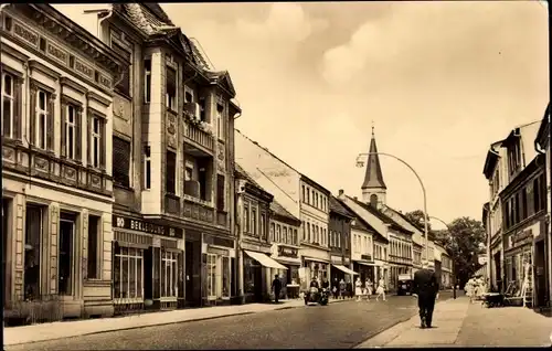
[(118, 214), (113, 230), (115, 312), (177, 308), (184, 298), (183, 231)]

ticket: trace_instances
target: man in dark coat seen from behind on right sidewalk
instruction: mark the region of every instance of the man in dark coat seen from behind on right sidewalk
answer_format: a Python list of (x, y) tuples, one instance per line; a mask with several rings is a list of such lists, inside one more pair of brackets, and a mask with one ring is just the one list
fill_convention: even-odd
[(426, 264), (414, 274), (413, 292), (414, 296), (417, 296), (421, 327), (432, 328), (433, 309), (435, 300), (438, 298), (439, 283), (435, 272), (429, 270)]

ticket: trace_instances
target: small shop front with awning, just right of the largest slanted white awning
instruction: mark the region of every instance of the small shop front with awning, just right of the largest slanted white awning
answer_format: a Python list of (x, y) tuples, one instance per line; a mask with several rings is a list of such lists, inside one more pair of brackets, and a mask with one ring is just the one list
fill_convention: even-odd
[(301, 266), (299, 248), (294, 245), (275, 243), (272, 246), (270, 257), (287, 268), (276, 273), (282, 277), (282, 295), (288, 298), (298, 297), (301, 283), (299, 278), (299, 267)]

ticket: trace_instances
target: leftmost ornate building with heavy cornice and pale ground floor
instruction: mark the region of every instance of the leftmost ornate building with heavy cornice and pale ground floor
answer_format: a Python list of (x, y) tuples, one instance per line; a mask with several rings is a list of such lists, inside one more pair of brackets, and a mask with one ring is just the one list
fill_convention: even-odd
[(108, 136), (129, 63), (49, 4), (0, 13), (4, 318), (110, 316)]

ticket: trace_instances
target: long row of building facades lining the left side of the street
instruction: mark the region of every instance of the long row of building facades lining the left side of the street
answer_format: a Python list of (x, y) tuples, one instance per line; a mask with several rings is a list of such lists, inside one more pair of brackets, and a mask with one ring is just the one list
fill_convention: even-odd
[(362, 200), (333, 196), (235, 130), (229, 73), (157, 3), (0, 14), (8, 318), (45, 300), (64, 318), (261, 301), (275, 274), (288, 295), (357, 274), (393, 290), (421, 267), (379, 159)]

